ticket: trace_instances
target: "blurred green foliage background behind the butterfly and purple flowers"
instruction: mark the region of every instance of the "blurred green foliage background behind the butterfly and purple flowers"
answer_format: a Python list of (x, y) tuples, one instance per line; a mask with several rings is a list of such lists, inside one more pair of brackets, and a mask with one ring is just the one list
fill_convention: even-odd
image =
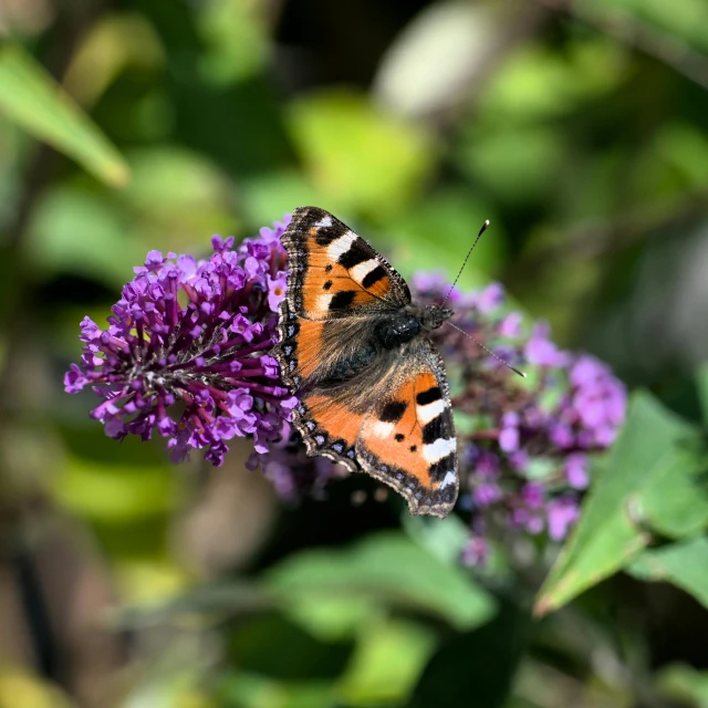
[(466, 287), (700, 425), (705, 0), (0, 0), (0, 30), (2, 708), (708, 706), (700, 560), (533, 620), (545, 556), (475, 574), (459, 519), (361, 476), (287, 504), (247, 444), (176, 468), (62, 388), (149, 249), (312, 204), (406, 277), (491, 219)]

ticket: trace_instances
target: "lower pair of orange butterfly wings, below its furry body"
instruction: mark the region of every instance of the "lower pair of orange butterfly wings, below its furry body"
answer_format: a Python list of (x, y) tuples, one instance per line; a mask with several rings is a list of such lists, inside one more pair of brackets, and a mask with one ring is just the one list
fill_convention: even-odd
[(356, 389), (304, 393), (295, 412), (308, 452), (363, 469), (408, 502), (445, 517), (458, 492), (457, 442), (445, 369), (427, 341)]

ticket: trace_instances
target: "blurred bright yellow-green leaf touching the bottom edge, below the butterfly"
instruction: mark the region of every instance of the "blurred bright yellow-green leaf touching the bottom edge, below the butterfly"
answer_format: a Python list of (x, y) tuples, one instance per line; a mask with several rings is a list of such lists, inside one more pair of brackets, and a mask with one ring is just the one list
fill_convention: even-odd
[(348, 706), (400, 705), (435, 649), (435, 634), (403, 620), (369, 623), (337, 684)]

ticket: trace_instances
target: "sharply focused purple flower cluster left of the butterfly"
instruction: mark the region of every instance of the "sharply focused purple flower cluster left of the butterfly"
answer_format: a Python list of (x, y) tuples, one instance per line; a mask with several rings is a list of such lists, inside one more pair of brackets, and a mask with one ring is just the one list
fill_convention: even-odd
[(102, 403), (91, 416), (108, 436), (149, 439), (157, 430), (175, 461), (205, 449), (214, 465), (233, 437), (251, 436), (260, 454), (282, 437), (296, 399), (269, 351), (285, 293), (280, 237), (289, 221), (236, 250), (232, 237), (214, 237), (202, 261), (150, 251), (107, 329), (84, 319), (81, 365), (72, 364), (64, 386), (93, 387)]

